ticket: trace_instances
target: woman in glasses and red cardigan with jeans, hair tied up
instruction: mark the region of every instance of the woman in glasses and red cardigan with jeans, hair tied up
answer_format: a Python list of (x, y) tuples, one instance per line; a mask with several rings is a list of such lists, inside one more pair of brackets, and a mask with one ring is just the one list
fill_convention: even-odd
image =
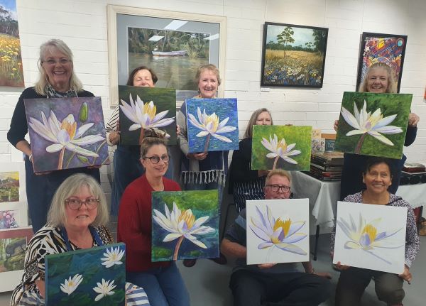
[(169, 160), (165, 138), (146, 131), (141, 144), (146, 172), (124, 190), (117, 238), (126, 244), (126, 280), (141, 286), (152, 306), (187, 306), (190, 297), (175, 262), (151, 262), (151, 192), (180, 190), (164, 177)]

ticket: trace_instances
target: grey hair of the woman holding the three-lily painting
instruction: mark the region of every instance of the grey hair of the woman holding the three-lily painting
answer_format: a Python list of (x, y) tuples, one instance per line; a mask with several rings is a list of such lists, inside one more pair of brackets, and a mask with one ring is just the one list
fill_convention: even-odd
[(85, 186), (89, 192), (99, 199), (97, 207), (97, 216), (92, 226), (106, 226), (109, 221), (109, 212), (107, 206), (107, 198), (104, 190), (102, 190), (99, 182), (93, 177), (83, 173), (77, 173), (67, 177), (66, 180), (56, 190), (53, 196), (52, 204), (50, 204), (48, 212), (48, 224), (53, 227), (66, 226), (67, 214), (65, 212), (65, 200), (72, 195), (76, 195), (82, 187)]

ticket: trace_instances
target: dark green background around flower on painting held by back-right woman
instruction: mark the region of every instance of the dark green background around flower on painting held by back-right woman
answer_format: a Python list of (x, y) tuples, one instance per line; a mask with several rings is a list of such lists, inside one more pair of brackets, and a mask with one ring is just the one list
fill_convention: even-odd
[[(381, 109), (383, 118), (398, 114), (396, 118), (388, 125), (398, 126), (403, 130), (402, 133), (382, 135), (392, 141), (393, 146), (388, 146), (371, 135), (366, 135), (361, 146), (362, 155), (381, 156), (386, 158), (401, 158), (403, 155), (403, 146), (405, 133), (407, 131), (408, 116), (410, 114), (412, 94), (373, 94), (368, 92), (344, 92), (342, 106), (351, 114), (354, 114), (354, 102), (360, 111), (364, 106), (364, 100), (367, 103), (366, 111), (373, 114), (376, 109)], [(356, 145), (361, 139), (361, 135), (346, 136), (346, 133), (353, 131), (354, 128), (347, 124), (342, 114), (339, 117), (339, 130), (337, 131), (336, 150), (354, 153)]]

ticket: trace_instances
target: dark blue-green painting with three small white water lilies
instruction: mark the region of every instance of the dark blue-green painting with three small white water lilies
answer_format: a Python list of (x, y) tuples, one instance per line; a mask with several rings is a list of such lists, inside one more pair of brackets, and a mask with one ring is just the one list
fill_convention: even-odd
[(45, 305), (124, 305), (126, 246), (45, 256)]

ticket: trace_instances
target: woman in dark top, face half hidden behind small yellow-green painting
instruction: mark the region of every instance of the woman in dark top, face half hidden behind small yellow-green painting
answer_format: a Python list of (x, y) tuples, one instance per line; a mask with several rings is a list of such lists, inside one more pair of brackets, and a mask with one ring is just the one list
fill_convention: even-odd
[(249, 124), (239, 143), (239, 150), (232, 153), (231, 167), (229, 168), (229, 193), (234, 195), (237, 212), (246, 207), (246, 200), (263, 200), (265, 177), (268, 170), (251, 170), (251, 138), (253, 126), (273, 124), (271, 112), (268, 109), (257, 109), (251, 114)]

